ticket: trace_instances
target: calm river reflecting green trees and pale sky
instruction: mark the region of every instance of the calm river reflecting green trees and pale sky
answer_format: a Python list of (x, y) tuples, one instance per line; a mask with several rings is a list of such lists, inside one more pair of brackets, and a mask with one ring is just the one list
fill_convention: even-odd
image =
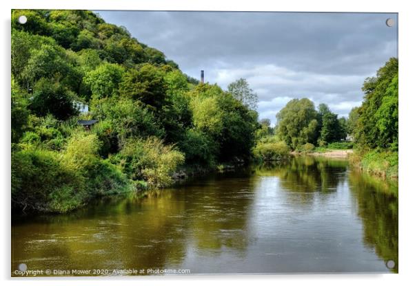
[(397, 193), (346, 160), (294, 157), (105, 197), (14, 219), (12, 275), (398, 272)]

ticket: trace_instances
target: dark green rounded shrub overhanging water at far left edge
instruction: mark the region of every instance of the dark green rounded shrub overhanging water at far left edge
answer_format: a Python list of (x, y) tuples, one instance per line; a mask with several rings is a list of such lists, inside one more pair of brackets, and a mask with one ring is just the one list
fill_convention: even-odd
[(12, 207), (41, 212), (67, 212), (88, 194), (85, 181), (59, 161), (59, 153), (28, 149), (12, 153)]

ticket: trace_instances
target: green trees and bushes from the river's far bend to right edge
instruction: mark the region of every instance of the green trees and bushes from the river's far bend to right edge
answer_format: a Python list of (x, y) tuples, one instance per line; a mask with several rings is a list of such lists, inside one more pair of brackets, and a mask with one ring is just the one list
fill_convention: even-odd
[[(315, 146), (349, 146), (352, 163), (383, 177), (398, 177), (398, 59), (390, 58), (376, 76), (366, 78), (361, 107), (338, 118), (326, 104), (293, 99), (276, 114), (276, 127), (261, 121), (254, 153), (262, 159), (281, 159), (290, 150), (313, 151)], [(338, 142), (338, 143), (336, 143)]]

